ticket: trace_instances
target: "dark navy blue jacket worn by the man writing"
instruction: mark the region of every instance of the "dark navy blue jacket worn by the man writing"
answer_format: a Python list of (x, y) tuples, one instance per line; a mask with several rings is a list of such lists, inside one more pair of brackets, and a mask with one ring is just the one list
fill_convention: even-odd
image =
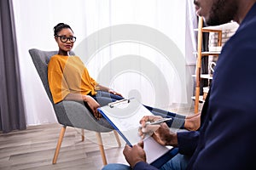
[(256, 3), (218, 57), (201, 114), (200, 131), (177, 134), (188, 169), (256, 169)]

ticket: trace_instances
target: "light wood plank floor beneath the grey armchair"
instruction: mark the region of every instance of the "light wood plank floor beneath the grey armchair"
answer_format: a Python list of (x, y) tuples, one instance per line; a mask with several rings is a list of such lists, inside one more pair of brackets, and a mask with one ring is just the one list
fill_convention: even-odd
[[(67, 127), (60, 154), (55, 165), (52, 158), (61, 131), (60, 124), (27, 127), (24, 131), (0, 133), (0, 169), (102, 169), (102, 157), (94, 132), (85, 131), (81, 141), (80, 129)], [(108, 163), (126, 163), (113, 133), (102, 133)]]

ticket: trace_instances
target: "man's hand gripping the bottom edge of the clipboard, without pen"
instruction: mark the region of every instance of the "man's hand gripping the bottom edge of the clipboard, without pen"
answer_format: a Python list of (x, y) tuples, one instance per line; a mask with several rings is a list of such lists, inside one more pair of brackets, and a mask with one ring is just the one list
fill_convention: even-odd
[(143, 150), (143, 141), (133, 145), (132, 147), (125, 145), (123, 154), (126, 161), (131, 165), (131, 168), (133, 168), (139, 161), (146, 161), (146, 154)]

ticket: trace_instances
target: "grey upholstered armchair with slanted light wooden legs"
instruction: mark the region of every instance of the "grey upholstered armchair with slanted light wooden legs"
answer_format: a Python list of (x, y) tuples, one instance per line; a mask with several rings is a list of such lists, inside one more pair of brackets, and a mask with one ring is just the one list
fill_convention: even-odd
[[(96, 138), (98, 140), (99, 148), (102, 155), (103, 165), (107, 164), (104, 147), (102, 144), (101, 133), (108, 133), (113, 131), (113, 127), (105, 119), (96, 120), (90, 111), (82, 104), (76, 101), (63, 100), (60, 103), (54, 104), (48, 84), (48, 63), (51, 56), (57, 54), (57, 51), (41, 51), (36, 48), (29, 50), (29, 54), (32, 57), (32, 61), (38, 71), (38, 75), (41, 78), (46, 93), (48, 94), (49, 100), (51, 101), (55, 115), (58, 122), (63, 126), (61, 127), (60, 137), (55, 149), (55, 156), (52, 163), (55, 164), (61, 149), (61, 142), (64, 137), (64, 133), (67, 127), (78, 127), (82, 129), (82, 140), (84, 141), (84, 129), (95, 131)], [(121, 145), (118, 133), (113, 131), (115, 138)]]

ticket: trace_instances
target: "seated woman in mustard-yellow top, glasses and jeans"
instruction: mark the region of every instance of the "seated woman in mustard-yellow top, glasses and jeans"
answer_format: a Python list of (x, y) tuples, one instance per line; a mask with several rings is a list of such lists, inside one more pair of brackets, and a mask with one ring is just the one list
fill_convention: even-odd
[[(96, 82), (90, 77), (89, 71), (82, 60), (78, 56), (70, 55), (73, 43), (76, 41), (70, 26), (64, 23), (56, 25), (54, 27), (54, 37), (59, 52), (51, 57), (48, 65), (49, 88), (54, 103), (56, 104), (62, 100), (84, 102), (84, 105), (97, 119), (102, 118), (102, 115), (96, 109), (108, 105), (110, 102), (124, 99), (123, 96)], [(181, 127), (188, 130), (196, 130), (200, 127), (200, 114), (183, 116), (145, 106), (154, 115), (173, 117), (172, 127)]]

